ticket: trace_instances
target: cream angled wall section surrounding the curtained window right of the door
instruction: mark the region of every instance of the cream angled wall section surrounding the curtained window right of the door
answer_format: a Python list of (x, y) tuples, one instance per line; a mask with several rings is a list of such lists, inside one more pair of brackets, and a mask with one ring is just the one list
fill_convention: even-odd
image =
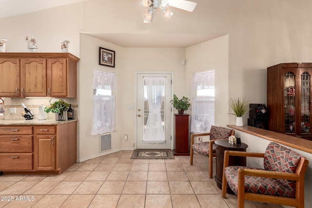
[[(229, 88), (229, 35), (186, 49), (186, 92), (192, 97), (193, 74), (215, 70), (215, 125), (226, 127)], [(191, 106), (192, 107), (192, 106)]]

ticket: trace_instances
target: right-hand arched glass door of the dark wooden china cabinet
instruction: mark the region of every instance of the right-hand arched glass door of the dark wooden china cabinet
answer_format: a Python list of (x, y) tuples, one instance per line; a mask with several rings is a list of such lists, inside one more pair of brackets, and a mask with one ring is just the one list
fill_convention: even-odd
[(300, 132), (301, 134), (310, 134), (310, 106), (311, 106), (311, 74), (307, 71), (300, 72), (300, 85), (301, 85), (301, 97), (300, 97)]

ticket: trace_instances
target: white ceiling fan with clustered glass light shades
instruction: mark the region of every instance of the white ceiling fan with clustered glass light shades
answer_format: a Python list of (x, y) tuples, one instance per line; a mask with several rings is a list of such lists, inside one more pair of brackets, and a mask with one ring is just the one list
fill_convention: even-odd
[(193, 12), (196, 5), (196, 2), (188, 0), (141, 0), (141, 6), (143, 8), (148, 8), (146, 14), (144, 15), (144, 23), (152, 22), (157, 8), (162, 10), (162, 14), (165, 19), (168, 20), (173, 15), (173, 12), (167, 9), (168, 6)]

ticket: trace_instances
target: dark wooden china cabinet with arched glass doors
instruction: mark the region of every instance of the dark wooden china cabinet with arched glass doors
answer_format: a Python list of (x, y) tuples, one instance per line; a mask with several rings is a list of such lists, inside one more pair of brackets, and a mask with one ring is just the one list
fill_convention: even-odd
[(269, 130), (312, 140), (312, 63), (281, 63), (267, 69)]

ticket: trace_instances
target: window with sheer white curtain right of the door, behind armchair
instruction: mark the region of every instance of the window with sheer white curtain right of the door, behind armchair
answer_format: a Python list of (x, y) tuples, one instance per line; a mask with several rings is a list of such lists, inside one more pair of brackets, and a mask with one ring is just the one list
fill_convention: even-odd
[(191, 132), (209, 132), (215, 124), (215, 70), (193, 75)]

